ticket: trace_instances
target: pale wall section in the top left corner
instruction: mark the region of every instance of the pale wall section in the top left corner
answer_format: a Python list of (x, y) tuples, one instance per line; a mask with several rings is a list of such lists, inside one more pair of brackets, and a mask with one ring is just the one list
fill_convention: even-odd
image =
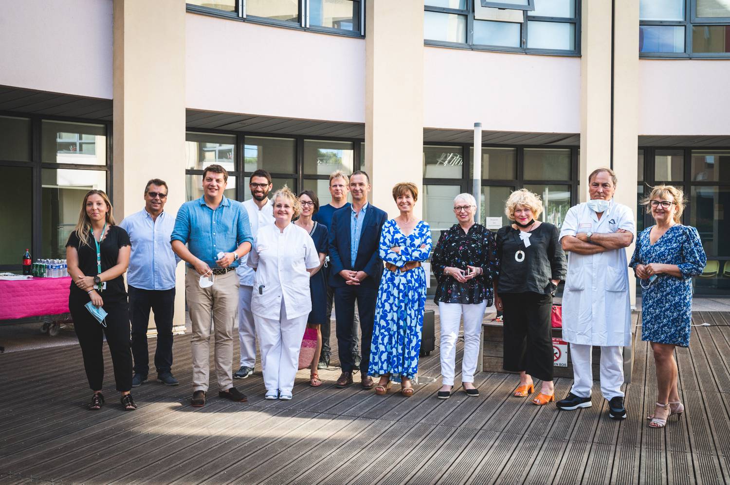
[(112, 97), (112, 0), (4, 0), (0, 85)]

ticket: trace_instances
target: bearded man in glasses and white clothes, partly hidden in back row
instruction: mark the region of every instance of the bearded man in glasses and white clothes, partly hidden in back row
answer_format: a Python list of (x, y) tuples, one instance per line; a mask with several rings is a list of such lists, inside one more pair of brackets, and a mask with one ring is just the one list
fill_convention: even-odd
[[(271, 174), (266, 170), (258, 169), (251, 174), (248, 187), (251, 190), (251, 198), (242, 205), (248, 213), (251, 237), (255, 239), (260, 228), (274, 223), (274, 209), (269, 201), (269, 191), (272, 190)], [(256, 330), (253, 324), (253, 313), (251, 313), (255, 272), (246, 264), (247, 259), (248, 255), (241, 257), (241, 263), (236, 268), (240, 283), (238, 288), (238, 336), (241, 342), (241, 368), (234, 373), (234, 379), (246, 379), (253, 374), (256, 364)]]

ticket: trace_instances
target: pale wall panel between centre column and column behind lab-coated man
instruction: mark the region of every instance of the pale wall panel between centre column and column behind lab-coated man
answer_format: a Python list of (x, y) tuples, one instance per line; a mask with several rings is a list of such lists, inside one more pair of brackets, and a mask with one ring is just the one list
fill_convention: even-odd
[(580, 58), (423, 48), (424, 126), (578, 133)]

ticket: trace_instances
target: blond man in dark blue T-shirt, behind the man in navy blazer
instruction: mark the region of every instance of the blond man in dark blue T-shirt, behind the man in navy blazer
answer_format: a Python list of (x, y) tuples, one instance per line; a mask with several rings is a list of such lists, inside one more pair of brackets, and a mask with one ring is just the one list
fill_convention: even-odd
[[(347, 181), (347, 175), (342, 170), (336, 170), (329, 176), (329, 193), (332, 196), (332, 201), (324, 206), (320, 206), (317, 213), (312, 217), (312, 220), (324, 225), (327, 230), (332, 225), (332, 216), (339, 209), (347, 209), (350, 207), (350, 203), (347, 202), (347, 193), (350, 190), (350, 183)], [(322, 333), (322, 353), (320, 354), (320, 361), (317, 365), (318, 369), (326, 369), (329, 367), (329, 360), (332, 355), (332, 350), (329, 345), (329, 337), (331, 335), (330, 319), (332, 317), (332, 302), (334, 300), (334, 288), (329, 285), (330, 275), (325, 272), (327, 281), (327, 311), (326, 311), (326, 322), (320, 326), (320, 332)], [(360, 362), (360, 350), (358, 346), (358, 328), (360, 327), (360, 317), (358, 317), (357, 306), (355, 310), (355, 319), (353, 320), (353, 358), (357, 365)]]

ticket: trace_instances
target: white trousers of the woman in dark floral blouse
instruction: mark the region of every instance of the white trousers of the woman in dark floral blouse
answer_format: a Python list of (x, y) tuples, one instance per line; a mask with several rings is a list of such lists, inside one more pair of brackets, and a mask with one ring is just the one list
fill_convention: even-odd
[(474, 382), (479, 359), (479, 338), (482, 335), (482, 319), (487, 309), (487, 301), (462, 305), (439, 301), (439, 320), (441, 322), (441, 383), (454, 385), (454, 366), (456, 365), (456, 340), (458, 339), (459, 320), (464, 316), (464, 359), (461, 360), (461, 382)]

